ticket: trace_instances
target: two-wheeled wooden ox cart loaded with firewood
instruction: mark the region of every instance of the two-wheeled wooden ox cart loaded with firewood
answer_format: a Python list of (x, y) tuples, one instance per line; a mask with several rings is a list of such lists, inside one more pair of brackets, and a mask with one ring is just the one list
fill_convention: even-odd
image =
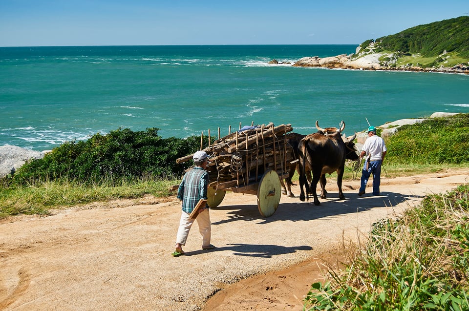
[[(260, 214), (273, 215), (280, 202), (281, 181), (288, 177), (289, 164), (294, 160), (286, 138), (291, 131), (291, 124), (244, 126), (213, 144), (209, 132), (209, 146), (203, 149), (211, 156), (207, 166), (208, 206), (219, 206), (226, 191), (254, 194)], [(176, 162), (191, 159), (192, 154)]]

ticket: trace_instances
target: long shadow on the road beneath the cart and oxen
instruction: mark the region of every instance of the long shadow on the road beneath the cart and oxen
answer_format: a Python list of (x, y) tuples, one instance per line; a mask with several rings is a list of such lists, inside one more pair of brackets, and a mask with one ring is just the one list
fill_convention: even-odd
[[(312, 198), (309, 202), (282, 203), (277, 207), (276, 212), (267, 218), (263, 218), (256, 205), (243, 206), (219, 206), (214, 210), (227, 211), (227, 219), (214, 222), (212, 225), (230, 223), (232, 221), (258, 221), (260, 225), (275, 221), (307, 221), (336, 215), (363, 212), (372, 208), (394, 207), (400, 203), (407, 202), (409, 205), (419, 202), (415, 200), (422, 196), (408, 195), (394, 192), (382, 192), (379, 196), (364, 194), (358, 196), (356, 193), (346, 193), (345, 200), (339, 200), (337, 193), (328, 193), (328, 199), (320, 199), (319, 206), (314, 205)], [(223, 203), (222, 203), (223, 204)]]

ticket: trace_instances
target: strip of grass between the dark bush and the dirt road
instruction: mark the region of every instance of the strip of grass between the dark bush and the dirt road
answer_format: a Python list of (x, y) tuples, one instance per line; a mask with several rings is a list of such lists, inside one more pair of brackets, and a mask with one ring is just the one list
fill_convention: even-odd
[(50, 208), (70, 207), (94, 201), (132, 199), (151, 194), (171, 195), (176, 180), (133, 178), (80, 182), (73, 179), (36, 182), (29, 186), (0, 188), (0, 217), (19, 214), (47, 214)]

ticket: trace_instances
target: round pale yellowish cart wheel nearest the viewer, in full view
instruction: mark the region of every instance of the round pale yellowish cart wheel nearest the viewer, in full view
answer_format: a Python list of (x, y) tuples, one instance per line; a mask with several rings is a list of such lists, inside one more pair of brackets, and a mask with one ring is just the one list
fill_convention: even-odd
[(277, 172), (273, 170), (265, 172), (257, 188), (257, 208), (262, 216), (269, 217), (275, 213), (280, 203), (281, 189)]

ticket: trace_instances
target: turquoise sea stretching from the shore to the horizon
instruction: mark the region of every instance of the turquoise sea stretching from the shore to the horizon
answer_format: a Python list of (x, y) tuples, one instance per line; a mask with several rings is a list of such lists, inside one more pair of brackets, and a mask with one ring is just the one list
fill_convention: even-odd
[(163, 137), (228, 134), (239, 123), (347, 135), (435, 111), (469, 113), (469, 76), (268, 65), (355, 45), (0, 48), (0, 145), (47, 150), (119, 127)]

